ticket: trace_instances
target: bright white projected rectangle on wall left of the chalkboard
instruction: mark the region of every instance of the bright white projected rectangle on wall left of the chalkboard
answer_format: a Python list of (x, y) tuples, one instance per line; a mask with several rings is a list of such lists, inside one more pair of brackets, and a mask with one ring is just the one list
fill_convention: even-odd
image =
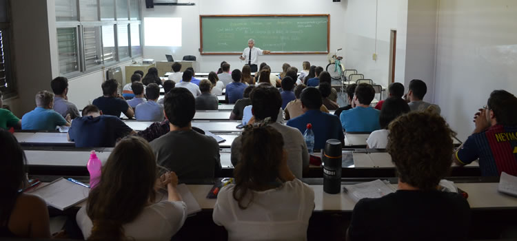
[(181, 47), (181, 18), (144, 18), (143, 24), (145, 46)]

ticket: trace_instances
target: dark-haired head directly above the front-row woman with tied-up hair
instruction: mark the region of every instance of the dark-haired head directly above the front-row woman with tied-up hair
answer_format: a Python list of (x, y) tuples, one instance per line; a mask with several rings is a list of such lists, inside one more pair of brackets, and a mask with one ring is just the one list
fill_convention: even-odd
[(276, 121), (278, 111), (282, 107), (282, 96), (276, 87), (259, 85), (250, 94), (252, 99), (252, 112), (257, 121), (271, 117)]

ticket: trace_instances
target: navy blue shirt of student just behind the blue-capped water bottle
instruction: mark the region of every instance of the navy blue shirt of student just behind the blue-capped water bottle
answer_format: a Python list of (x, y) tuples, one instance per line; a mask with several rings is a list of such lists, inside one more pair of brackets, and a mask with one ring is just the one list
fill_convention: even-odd
[(287, 121), (287, 125), (305, 133), (307, 123), (312, 124), (314, 132), (314, 149), (325, 148), (328, 139), (338, 139), (341, 142), (345, 139), (341, 123), (337, 116), (321, 112), (319, 109), (310, 109), (305, 114)]

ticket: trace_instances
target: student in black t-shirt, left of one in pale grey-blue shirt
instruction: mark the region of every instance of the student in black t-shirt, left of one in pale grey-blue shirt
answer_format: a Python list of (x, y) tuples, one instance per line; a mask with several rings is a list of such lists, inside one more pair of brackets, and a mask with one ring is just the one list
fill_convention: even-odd
[(109, 79), (102, 83), (103, 96), (93, 100), (92, 104), (99, 107), (103, 114), (119, 117), (124, 113), (128, 118), (134, 115), (133, 108), (125, 102), (124, 97), (116, 93), (119, 83), (114, 79)]

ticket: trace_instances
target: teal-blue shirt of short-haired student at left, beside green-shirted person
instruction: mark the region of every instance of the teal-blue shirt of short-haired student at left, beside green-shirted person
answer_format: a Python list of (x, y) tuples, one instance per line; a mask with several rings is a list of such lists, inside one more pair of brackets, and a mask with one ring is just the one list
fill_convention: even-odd
[(54, 109), (36, 107), (21, 117), (21, 129), (55, 131), (57, 125), (66, 125), (66, 120)]

